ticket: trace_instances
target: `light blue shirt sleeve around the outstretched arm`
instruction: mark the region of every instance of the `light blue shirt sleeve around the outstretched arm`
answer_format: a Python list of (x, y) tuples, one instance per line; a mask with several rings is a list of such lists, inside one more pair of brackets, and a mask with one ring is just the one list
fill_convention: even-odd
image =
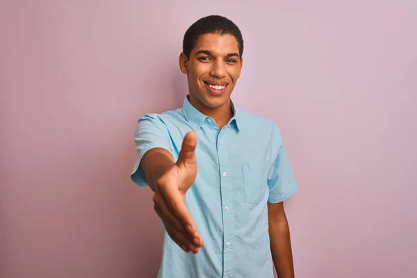
[(172, 153), (170, 134), (167, 126), (156, 114), (147, 114), (138, 120), (135, 130), (135, 144), (138, 157), (131, 172), (131, 180), (138, 186), (148, 186), (145, 172), (140, 166), (143, 155), (156, 147), (167, 149)]

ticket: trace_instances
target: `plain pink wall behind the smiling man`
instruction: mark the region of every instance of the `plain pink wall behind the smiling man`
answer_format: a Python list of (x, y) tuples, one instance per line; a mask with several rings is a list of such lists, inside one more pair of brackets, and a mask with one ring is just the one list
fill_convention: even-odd
[(183, 32), (213, 13), (245, 38), (237, 106), (277, 121), (300, 184), (297, 277), (417, 277), (415, 1), (151, 2), (1, 1), (0, 277), (156, 276), (133, 131), (182, 103)]

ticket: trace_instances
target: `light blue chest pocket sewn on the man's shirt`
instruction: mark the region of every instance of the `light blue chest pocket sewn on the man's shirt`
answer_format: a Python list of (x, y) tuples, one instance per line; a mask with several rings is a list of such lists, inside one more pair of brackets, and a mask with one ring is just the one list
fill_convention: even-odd
[(270, 167), (270, 161), (242, 164), (245, 201), (247, 203), (259, 204), (265, 197)]

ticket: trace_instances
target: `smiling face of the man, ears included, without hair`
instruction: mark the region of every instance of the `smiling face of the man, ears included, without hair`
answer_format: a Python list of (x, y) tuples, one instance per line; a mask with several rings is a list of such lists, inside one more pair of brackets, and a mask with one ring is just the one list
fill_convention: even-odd
[(243, 65), (233, 35), (200, 35), (189, 59), (181, 53), (179, 65), (181, 72), (187, 74), (193, 106), (202, 113), (230, 111), (230, 95)]

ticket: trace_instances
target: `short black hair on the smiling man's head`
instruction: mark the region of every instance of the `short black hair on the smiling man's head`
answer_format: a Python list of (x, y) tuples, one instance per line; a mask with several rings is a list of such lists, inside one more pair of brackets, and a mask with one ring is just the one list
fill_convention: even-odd
[(233, 35), (238, 41), (239, 55), (242, 58), (243, 54), (243, 38), (242, 33), (234, 22), (221, 15), (208, 15), (197, 20), (186, 31), (183, 38), (183, 53), (186, 54), (187, 59), (190, 58), (191, 51), (195, 47), (200, 35), (217, 33), (219, 35), (229, 34)]

